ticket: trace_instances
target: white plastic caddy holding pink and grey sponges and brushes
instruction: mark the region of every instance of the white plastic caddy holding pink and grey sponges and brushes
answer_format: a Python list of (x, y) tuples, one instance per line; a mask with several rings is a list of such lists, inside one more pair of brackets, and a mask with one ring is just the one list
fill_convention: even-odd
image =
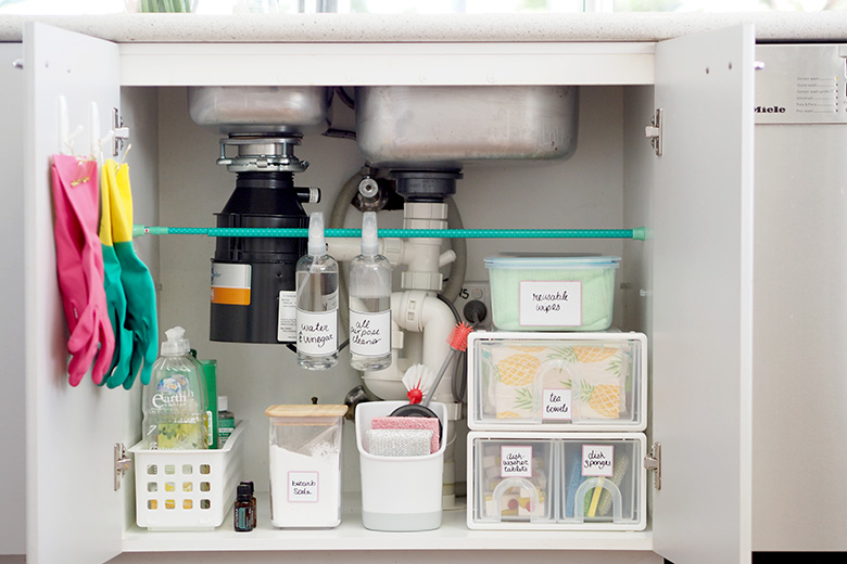
[[(370, 453), (368, 431), (374, 418), (391, 414), (406, 401), (371, 401), (356, 407), (356, 446), (362, 469), (362, 524), (371, 530), (431, 530), (441, 526), (444, 449), (430, 454), (384, 457)], [(429, 408), (441, 420), (447, 437), (446, 408), (433, 401)], [(408, 419), (408, 418), (397, 418)]]

